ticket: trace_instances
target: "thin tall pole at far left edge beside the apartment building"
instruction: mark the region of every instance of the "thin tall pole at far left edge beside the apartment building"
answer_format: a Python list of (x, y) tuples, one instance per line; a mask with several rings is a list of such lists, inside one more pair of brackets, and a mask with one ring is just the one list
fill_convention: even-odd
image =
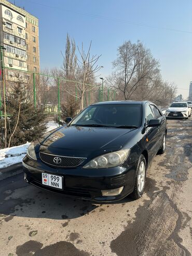
[[(1, 76), (0, 80), (2, 80), (2, 87), (3, 87), (3, 98), (4, 98), (4, 127), (5, 127), (5, 147), (7, 147), (7, 122), (6, 122), (6, 101), (5, 101), (5, 78), (4, 78), (4, 55), (3, 50), (6, 48), (2, 45), (0, 45), (0, 51), (1, 51)], [(2, 97), (1, 97), (1, 90), (0, 90), (0, 107), (2, 107)], [(1, 111), (1, 117), (2, 117), (2, 111)]]

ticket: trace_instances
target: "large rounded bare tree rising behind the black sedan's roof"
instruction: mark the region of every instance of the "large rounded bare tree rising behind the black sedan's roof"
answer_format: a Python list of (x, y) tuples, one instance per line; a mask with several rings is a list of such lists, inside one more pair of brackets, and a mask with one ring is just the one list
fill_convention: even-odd
[(115, 71), (108, 82), (123, 93), (125, 100), (129, 100), (140, 85), (148, 84), (157, 76), (159, 62), (140, 41), (136, 44), (127, 41), (118, 47), (113, 68)]

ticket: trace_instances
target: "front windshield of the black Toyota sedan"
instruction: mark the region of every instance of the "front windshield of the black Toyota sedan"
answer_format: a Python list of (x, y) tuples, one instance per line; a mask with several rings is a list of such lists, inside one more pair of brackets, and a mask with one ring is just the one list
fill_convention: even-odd
[(81, 112), (71, 126), (138, 128), (142, 121), (140, 104), (91, 105)]

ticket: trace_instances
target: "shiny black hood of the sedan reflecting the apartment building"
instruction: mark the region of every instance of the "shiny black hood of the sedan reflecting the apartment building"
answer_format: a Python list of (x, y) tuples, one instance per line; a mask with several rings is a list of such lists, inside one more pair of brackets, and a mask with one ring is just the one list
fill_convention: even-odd
[(137, 129), (63, 126), (39, 140), (40, 151), (66, 156), (120, 150)]

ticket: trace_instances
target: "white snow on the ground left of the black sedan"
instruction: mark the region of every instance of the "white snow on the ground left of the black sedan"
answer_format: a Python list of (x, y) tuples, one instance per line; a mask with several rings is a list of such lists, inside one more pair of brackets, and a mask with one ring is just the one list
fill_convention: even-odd
[[(53, 122), (47, 123), (47, 131), (51, 131), (55, 128), (59, 127), (58, 124)], [(10, 165), (14, 165), (17, 163), (21, 163), (23, 157), (28, 151), (29, 142), (20, 146), (13, 146), (7, 149), (0, 150), (0, 169), (8, 167)]]

